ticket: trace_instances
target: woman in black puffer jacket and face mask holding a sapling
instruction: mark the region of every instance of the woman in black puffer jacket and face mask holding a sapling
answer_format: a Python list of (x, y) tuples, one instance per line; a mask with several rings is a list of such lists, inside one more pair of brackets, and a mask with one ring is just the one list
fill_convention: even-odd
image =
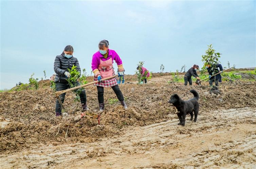
[[(65, 47), (64, 51), (61, 55), (56, 56), (54, 61), (54, 71), (55, 71), (55, 83), (56, 83), (56, 91), (66, 90), (70, 88), (69, 83), (67, 81), (70, 78), (70, 73), (68, 69), (71, 69), (73, 65), (76, 66), (77, 71), (81, 74), (81, 69), (76, 57), (73, 57), (73, 47), (68, 45)], [(80, 76), (80, 75), (79, 75)], [(80, 83), (76, 81), (76, 86), (80, 86)], [(61, 102), (64, 102), (66, 93), (63, 93), (59, 96)], [(86, 104), (86, 93), (85, 89), (82, 89), (80, 93), (80, 101), (83, 107), (83, 111), (89, 110)], [(56, 99), (56, 107), (55, 107), (56, 116), (61, 116), (61, 105), (59, 100)]]

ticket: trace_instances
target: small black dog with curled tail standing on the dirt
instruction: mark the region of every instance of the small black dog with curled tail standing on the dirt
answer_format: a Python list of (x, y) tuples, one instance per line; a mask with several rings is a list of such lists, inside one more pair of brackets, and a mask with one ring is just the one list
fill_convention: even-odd
[(182, 100), (177, 94), (171, 95), (170, 100), (168, 103), (173, 104), (178, 110), (178, 117), (180, 120), (180, 123), (178, 125), (185, 125), (185, 117), (187, 114), (190, 114), (191, 118), (190, 120), (193, 120), (193, 112), (195, 114), (194, 122), (197, 121), (197, 115), (199, 111), (199, 94), (195, 90), (190, 90), (191, 93), (193, 93), (194, 97), (189, 100)]

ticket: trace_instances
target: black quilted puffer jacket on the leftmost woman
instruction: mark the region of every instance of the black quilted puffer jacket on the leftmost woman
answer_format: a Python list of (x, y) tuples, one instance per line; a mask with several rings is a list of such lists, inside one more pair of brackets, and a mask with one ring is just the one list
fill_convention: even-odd
[(77, 71), (81, 74), (81, 69), (79, 62), (76, 57), (67, 58), (64, 56), (64, 53), (56, 56), (54, 61), (54, 71), (55, 71), (55, 82), (67, 82), (67, 77), (64, 75), (65, 72), (68, 72), (68, 68), (71, 69), (75, 65)]

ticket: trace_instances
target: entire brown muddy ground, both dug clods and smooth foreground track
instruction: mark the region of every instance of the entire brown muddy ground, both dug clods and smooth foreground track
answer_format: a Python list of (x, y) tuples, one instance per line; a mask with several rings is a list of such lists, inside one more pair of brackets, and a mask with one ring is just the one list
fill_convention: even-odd
[[(155, 74), (145, 85), (126, 76), (120, 85), (129, 110), (112, 89), (105, 90), (106, 108), (97, 120), (96, 87), (86, 88), (90, 111), (81, 113), (67, 93), (69, 116), (56, 118), (55, 96), (48, 80), (39, 90), (0, 93), (1, 168), (255, 168), (256, 83), (222, 82), (221, 95), (193, 84), (167, 83)], [(88, 78), (88, 81), (92, 81)], [(183, 99), (199, 92), (198, 121), (178, 126), (173, 93)]]

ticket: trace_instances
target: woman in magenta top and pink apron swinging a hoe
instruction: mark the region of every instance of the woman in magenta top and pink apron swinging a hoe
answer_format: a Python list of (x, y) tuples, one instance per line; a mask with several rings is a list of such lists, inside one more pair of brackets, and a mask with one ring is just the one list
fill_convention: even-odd
[(98, 90), (98, 101), (99, 101), (99, 111), (104, 110), (104, 88), (111, 87), (115, 92), (118, 100), (127, 108), (127, 105), (124, 101), (123, 93), (120, 91), (116, 78), (111, 78), (108, 80), (101, 80), (103, 78), (107, 78), (115, 75), (115, 71), (113, 68), (113, 61), (116, 62), (118, 67), (118, 75), (124, 75), (124, 67), (121, 58), (118, 54), (108, 48), (109, 42), (107, 40), (102, 40), (99, 42), (99, 50), (93, 54), (92, 56), (92, 71), (94, 73), (94, 81), (98, 81), (95, 83)]

